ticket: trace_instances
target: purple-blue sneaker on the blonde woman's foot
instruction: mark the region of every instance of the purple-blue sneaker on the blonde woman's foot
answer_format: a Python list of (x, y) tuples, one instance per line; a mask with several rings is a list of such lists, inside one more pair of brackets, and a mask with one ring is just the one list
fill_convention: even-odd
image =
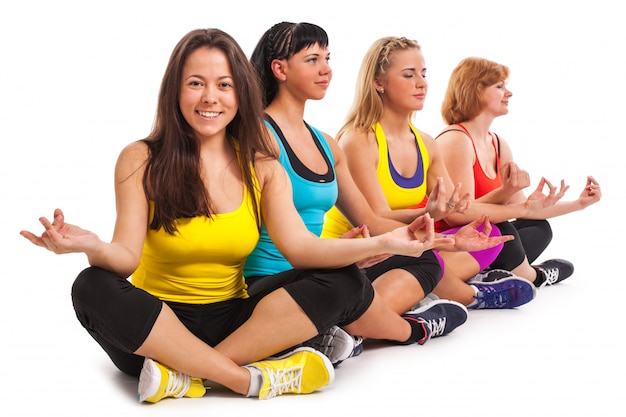
[(537, 294), (530, 281), (517, 276), (472, 285), (478, 289), (476, 301), (469, 306), (472, 309), (515, 308), (532, 301)]

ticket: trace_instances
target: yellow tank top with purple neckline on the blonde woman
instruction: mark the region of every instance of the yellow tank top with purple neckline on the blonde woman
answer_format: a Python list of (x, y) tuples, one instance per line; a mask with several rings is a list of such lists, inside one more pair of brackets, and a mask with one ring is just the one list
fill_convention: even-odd
[[(387, 138), (385, 137), (382, 126), (380, 123), (376, 123), (372, 127), (376, 135), (376, 143), (378, 144), (376, 175), (387, 199), (387, 203), (392, 210), (417, 206), (424, 200), (428, 192), (427, 176), (428, 167), (430, 166), (428, 150), (417, 129), (411, 123), (409, 123), (409, 128), (415, 136), (418, 164), (413, 177), (404, 178), (400, 177), (399, 174), (392, 175), (393, 169), (389, 163)], [(352, 227), (348, 219), (337, 209), (337, 206), (333, 206), (326, 213), (322, 237), (341, 237), (341, 235)]]

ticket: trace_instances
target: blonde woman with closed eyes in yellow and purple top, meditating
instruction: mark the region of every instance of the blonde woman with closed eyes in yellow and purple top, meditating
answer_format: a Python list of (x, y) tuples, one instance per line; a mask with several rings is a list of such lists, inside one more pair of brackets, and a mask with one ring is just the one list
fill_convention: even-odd
[[(337, 134), (355, 183), (379, 216), (410, 223), (424, 213), (432, 213), (440, 230), (454, 233), (459, 226), (483, 216), (482, 204), (472, 202), (454, 210), (458, 193), (446, 170), (436, 142), (419, 131), (412, 122), (423, 108), (428, 84), (426, 65), (416, 41), (385, 37), (372, 44), (366, 53), (356, 86), (353, 106), (346, 123)], [(527, 201), (509, 207), (511, 216), (534, 212), (559, 198), (555, 187), (544, 195), (538, 187)], [(439, 189), (448, 191), (450, 212), (436, 210)], [(458, 193), (464, 195), (464, 193)], [(326, 215), (325, 237), (336, 237), (352, 227), (339, 207)], [(492, 235), (499, 235), (497, 228)], [(443, 277), (433, 290), (440, 298), (468, 308), (514, 308), (531, 301), (535, 289), (519, 277), (508, 277), (497, 284), (469, 284), (471, 277), (497, 257), (501, 246), (469, 252), (438, 251)]]

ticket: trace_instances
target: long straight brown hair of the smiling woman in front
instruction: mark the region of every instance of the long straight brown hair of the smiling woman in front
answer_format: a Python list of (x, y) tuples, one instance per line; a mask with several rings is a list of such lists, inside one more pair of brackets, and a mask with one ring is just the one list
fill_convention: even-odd
[(157, 112), (150, 135), (150, 150), (143, 178), (148, 200), (154, 202), (150, 228), (176, 231), (175, 220), (200, 215), (211, 217), (211, 196), (200, 177), (200, 143), (179, 106), (180, 84), (187, 57), (201, 47), (224, 52), (233, 73), (238, 111), (226, 127), (228, 140), (237, 150), (243, 182), (261, 220), (254, 196), (252, 165), (256, 152), (273, 156), (263, 128), (261, 89), (254, 69), (239, 44), (219, 29), (197, 29), (185, 35), (170, 56), (159, 92)]

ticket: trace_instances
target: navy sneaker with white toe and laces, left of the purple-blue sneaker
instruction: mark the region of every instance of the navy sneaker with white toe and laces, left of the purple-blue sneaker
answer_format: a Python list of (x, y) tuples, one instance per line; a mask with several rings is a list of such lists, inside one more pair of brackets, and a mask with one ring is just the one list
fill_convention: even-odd
[(430, 338), (445, 336), (465, 323), (467, 308), (456, 301), (437, 299), (407, 311), (402, 317), (417, 320), (428, 329), (426, 337), (418, 342), (423, 345)]

